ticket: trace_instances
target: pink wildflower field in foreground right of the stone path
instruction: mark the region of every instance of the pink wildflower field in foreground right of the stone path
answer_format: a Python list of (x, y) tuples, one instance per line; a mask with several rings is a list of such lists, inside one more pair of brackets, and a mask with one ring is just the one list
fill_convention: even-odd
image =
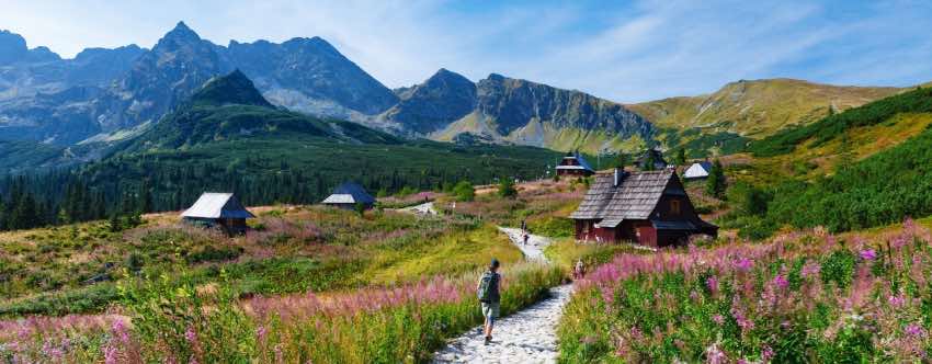
[(922, 362), (932, 235), (822, 229), (622, 254), (577, 282), (560, 361)]

